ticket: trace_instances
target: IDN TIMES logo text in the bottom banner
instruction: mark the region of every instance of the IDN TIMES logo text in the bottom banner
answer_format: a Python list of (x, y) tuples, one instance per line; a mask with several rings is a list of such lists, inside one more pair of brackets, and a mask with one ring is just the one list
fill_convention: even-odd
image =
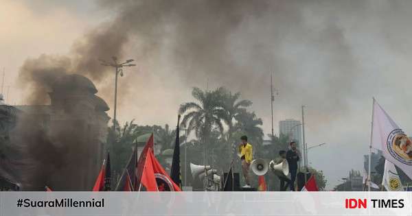
[(403, 208), (403, 199), (355, 199), (347, 198), (345, 199), (345, 208)]

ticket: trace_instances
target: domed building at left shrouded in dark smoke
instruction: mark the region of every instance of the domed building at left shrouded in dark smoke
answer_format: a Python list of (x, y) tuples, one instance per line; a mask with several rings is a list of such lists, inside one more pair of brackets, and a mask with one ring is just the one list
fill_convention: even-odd
[(58, 152), (50, 156), (50, 161), (58, 161), (53, 163), (60, 167), (52, 167), (42, 179), (53, 190), (90, 191), (98, 176), (110, 118), (106, 114), (108, 105), (96, 93), (87, 77), (63, 75), (49, 92), (49, 105), (14, 106), (21, 112), (20, 119), (36, 123)]

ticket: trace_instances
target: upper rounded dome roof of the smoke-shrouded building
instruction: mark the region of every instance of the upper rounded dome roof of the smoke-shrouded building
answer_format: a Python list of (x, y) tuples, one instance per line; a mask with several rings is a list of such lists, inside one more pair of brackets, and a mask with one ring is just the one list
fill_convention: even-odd
[(89, 80), (89, 78), (78, 75), (78, 74), (69, 74), (64, 75), (54, 84), (53, 89), (56, 90), (68, 90), (73, 88), (83, 88), (86, 91), (89, 91), (92, 94), (98, 93), (96, 86)]

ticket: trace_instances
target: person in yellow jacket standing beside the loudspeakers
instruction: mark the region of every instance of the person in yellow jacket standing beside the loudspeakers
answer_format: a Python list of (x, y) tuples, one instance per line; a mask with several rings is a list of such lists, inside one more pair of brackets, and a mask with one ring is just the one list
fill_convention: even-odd
[(240, 137), (242, 143), (239, 144), (240, 160), (242, 161), (242, 173), (244, 177), (244, 182), (246, 185), (244, 187), (251, 187), (251, 180), (249, 177), (249, 167), (253, 160), (253, 148), (252, 145), (247, 142), (247, 136)]

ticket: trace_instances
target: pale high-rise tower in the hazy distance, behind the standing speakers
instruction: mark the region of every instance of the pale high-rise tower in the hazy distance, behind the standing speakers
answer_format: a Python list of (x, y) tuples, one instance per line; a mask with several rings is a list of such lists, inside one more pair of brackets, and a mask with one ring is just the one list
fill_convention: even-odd
[(279, 134), (289, 137), (290, 141), (295, 141), (299, 148), (302, 146), (302, 127), (301, 122), (295, 119), (279, 121)]

